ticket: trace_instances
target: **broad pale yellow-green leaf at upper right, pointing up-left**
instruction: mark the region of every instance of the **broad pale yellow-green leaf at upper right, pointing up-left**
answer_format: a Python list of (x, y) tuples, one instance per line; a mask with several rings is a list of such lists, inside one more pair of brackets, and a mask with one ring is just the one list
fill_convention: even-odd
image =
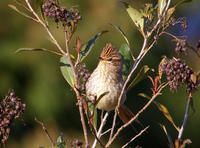
[(140, 29), (140, 32), (144, 36), (144, 16), (137, 9), (131, 7), (128, 3), (122, 2), (129, 16), (131, 17), (134, 24)]

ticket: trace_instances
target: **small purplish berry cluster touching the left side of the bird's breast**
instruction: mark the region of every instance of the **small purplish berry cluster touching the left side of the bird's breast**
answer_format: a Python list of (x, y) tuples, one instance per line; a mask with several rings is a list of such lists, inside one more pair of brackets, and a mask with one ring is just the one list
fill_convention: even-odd
[(85, 64), (76, 65), (76, 70), (77, 70), (77, 74), (78, 74), (78, 79), (79, 79), (79, 81), (81, 83), (80, 90), (82, 92), (85, 92), (85, 83), (87, 82), (88, 78), (90, 77), (90, 73), (86, 69), (86, 65)]

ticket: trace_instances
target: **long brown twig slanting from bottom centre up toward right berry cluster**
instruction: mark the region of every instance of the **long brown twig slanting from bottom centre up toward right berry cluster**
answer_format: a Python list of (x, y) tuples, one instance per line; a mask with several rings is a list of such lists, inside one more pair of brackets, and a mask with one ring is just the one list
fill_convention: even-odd
[(155, 98), (161, 94), (162, 89), (165, 88), (168, 84), (169, 84), (169, 82), (163, 84), (162, 87), (160, 87), (160, 89), (156, 92), (156, 94), (153, 95), (152, 98), (146, 103), (146, 105), (145, 105), (140, 111), (138, 111), (138, 113), (137, 113), (129, 122), (127, 122), (126, 124), (122, 125), (122, 126), (117, 130), (117, 132), (116, 132), (115, 135), (112, 137), (112, 139), (109, 140), (108, 143), (106, 144), (106, 148), (108, 148), (108, 147), (112, 144), (112, 142), (115, 140), (115, 138), (119, 135), (119, 133), (120, 133), (124, 128), (126, 128), (126, 127), (129, 126), (131, 123), (133, 123), (133, 122), (138, 118), (138, 116), (139, 116), (142, 112), (144, 112), (144, 110), (146, 110), (146, 108), (155, 100)]

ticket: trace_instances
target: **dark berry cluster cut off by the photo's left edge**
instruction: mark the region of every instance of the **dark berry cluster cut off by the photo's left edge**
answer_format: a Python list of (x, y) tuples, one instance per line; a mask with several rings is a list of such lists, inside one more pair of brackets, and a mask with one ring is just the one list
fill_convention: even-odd
[(0, 137), (1, 143), (5, 143), (10, 134), (10, 126), (14, 119), (19, 118), (21, 113), (25, 111), (26, 104), (15, 96), (14, 91), (10, 91), (8, 95), (0, 102)]

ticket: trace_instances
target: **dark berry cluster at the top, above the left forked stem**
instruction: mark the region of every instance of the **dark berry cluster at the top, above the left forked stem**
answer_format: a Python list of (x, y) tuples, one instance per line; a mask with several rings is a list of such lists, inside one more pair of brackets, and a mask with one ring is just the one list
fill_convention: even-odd
[(56, 23), (62, 22), (63, 26), (71, 27), (81, 19), (78, 10), (73, 8), (67, 10), (67, 8), (59, 6), (56, 0), (46, 0), (42, 9), (46, 17), (53, 18)]

